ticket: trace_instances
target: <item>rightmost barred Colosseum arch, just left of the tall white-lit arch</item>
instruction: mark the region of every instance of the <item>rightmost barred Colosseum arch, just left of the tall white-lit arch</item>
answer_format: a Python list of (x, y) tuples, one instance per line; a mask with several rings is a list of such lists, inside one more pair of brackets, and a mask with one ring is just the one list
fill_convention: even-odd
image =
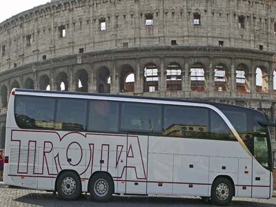
[(244, 64), (239, 64), (236, 70), (237, 92), (249, 92), (249, 81), (247, 78), (248, 68)]

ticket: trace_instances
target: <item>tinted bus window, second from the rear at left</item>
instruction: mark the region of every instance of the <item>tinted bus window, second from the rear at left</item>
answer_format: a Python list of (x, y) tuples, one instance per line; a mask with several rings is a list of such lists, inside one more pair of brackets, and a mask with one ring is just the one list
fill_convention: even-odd
[(57, 130), (85, 130), (87, 101), (79, 99), (58, 99)]

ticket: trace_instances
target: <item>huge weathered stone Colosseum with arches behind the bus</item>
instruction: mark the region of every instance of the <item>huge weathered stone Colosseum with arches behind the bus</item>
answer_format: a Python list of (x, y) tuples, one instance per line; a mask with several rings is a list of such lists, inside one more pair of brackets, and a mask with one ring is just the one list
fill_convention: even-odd
[(275, 122), (275, 48), (275, 0), (52, 0), (0, 23), (0, 148), (12, 88), (217, 101)]

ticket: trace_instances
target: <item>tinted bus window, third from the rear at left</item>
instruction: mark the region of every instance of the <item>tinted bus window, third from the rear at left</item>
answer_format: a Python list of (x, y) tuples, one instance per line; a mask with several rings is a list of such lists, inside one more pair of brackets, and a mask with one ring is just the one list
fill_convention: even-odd
[(88, 130), (117, 132), (119, 123), (119, 103), (112, 101), (90, 101)]

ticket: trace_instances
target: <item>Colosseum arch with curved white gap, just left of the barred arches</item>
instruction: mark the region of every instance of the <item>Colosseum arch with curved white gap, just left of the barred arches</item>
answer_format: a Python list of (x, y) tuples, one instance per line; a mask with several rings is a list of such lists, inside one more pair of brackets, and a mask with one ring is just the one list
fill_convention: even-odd
[(135, 75), (131, 66), (122, 66), (120, 77), (120, 91), (134, 92)]

